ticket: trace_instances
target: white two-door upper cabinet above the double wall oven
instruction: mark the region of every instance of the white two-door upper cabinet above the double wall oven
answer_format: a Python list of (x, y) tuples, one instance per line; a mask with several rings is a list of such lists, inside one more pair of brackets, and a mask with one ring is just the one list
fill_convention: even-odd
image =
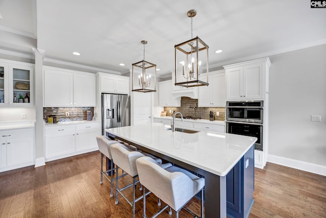
[(224, 66), (227, 100), (264, 100), (268, 92), (269, 58)]

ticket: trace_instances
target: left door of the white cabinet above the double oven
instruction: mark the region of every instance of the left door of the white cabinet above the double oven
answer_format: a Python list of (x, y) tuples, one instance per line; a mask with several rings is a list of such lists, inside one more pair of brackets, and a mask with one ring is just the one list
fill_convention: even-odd
[(243, 67), (226, 69), (226, 99), (240, 99), (243, 92)]

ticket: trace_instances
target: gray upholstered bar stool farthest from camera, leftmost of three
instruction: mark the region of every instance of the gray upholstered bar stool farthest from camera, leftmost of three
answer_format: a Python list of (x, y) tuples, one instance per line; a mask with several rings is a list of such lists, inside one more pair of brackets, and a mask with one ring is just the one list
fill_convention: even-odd
[[(100, 182), (100, 184), (103, 184), (103, 176), (104, 176), (111, 183), (110, 197), (113, 197), (113, 181), (115, 180), (113, 178), (113, 172), (116, 170), (116, 168), (114, 168), (114, 163), (112, 160), (110, 146), (112, 144), (116, 144), (119, 142), (115, 141), (115, 140), (111, 140), (110, 138), (108, 138), (104, 135), (96, 136), (96, 141), (97, 141), (98, 150), (101, 152), (101, 182)], [(103, 171), (103, 156), (110, 159), (110, 162), (111, 162), (111, 167), (107, 171)], [(111, 179), (108, 178), (108, 174), (111, 175)], [(126, 176), (126, 175), (127, 174), (122, 174), (119, 178)]]

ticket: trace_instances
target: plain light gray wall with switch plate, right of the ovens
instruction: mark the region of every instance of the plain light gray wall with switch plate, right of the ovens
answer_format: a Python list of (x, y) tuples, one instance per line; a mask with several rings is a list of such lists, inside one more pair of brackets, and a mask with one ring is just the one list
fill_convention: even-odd
[(269, 58), (268, 154), (326, 166), (326, 44)]

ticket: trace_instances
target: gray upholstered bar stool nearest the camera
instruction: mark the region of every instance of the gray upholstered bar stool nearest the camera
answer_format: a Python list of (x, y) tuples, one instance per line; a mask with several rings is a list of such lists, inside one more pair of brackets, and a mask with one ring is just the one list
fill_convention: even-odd
[(179, 217), (179, 211), (184, 208), (189, 213), (197, 217), (184, 205), (188, 203), (198, 192), (201, 191), (201, 217), (204, 215), (203, 198), (204, 198), (204, 185), (205, 179), (199, 178), (188, 171), (176, 166), (170, 166), (168, 168), (161, 168), (150, 157), (141, 157), (136, 160), (138, 177), (143, 187), (143, 203), (144, 214), (146, 217), (146, 188), (149, 189), (157, 198), (164, 201), (167, 206), (158, 211), (154, 216), (158, 216), (166, 208), (169, 208), (169, 214), (171, 208), (176, 211), (176, 217)]

